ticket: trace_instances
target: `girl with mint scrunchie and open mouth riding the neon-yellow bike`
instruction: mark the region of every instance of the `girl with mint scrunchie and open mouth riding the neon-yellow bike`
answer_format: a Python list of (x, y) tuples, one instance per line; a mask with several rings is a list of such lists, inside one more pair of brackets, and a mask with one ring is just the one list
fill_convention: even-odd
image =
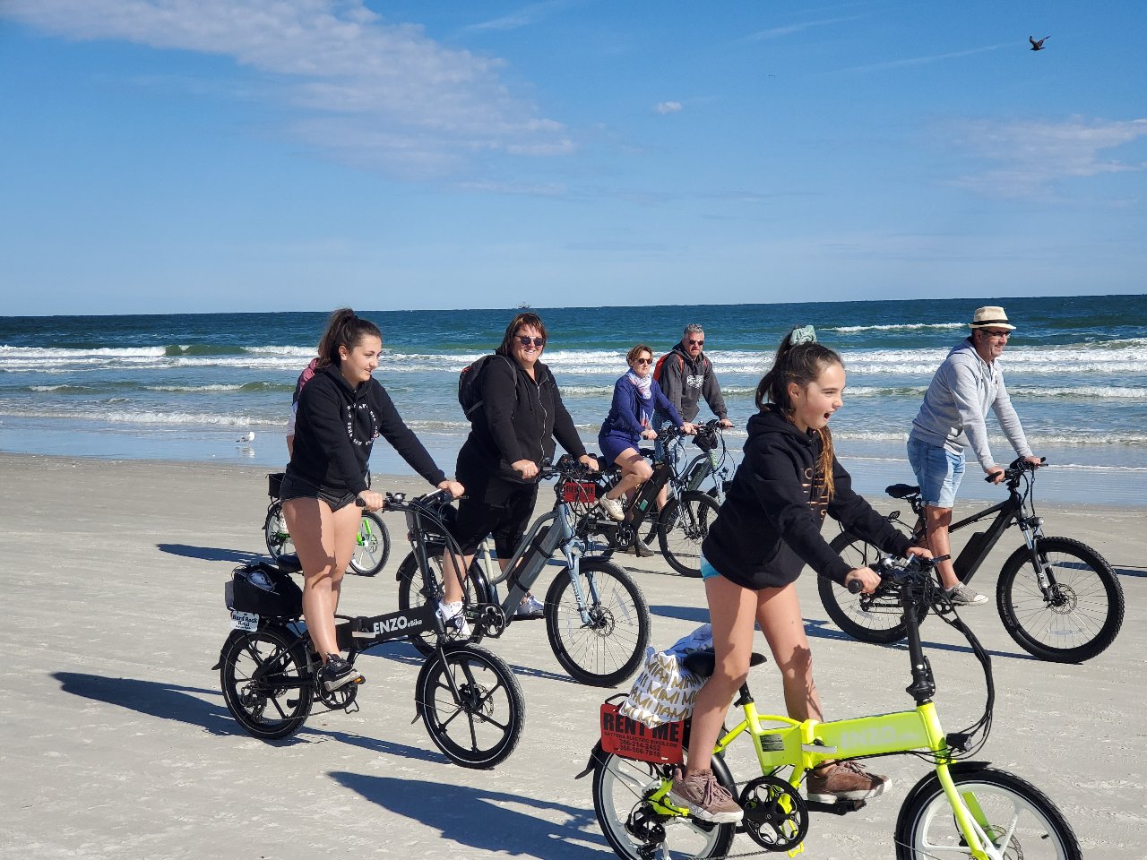
[[(812, 326), (793, 329), (757, 385), (759, 412), (747, 427), (744, 460), (701, 547), (716, 666), (694, 703), (688, 769), (673, 781), (671, 797), (707, 821), (742, 818), (713, 779), (710, 758), (733, 694), (749, 674), (754, 623), (781, 671), (789, 717), (821, 720), (796, 579), (807, 564), (837, 583), (859, 581), (865, 592), (880, 584), (869, 568), (850, 569), (829, 548), (820, 534), (825, 515), (885, 552), (929, 555), (910, 547), (906, 537), (852, 492), (828, 430), (843, 393), (841, 357), (817, 343)], [(876, 797), (887, 785), (887, 777), (856, 761), (820, 765), (806, 783), (809, 799), (826, 803)]]

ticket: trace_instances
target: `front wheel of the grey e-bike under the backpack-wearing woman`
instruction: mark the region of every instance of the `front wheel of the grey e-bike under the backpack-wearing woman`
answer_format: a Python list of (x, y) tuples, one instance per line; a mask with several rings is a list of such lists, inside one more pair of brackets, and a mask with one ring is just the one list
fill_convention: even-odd
[(649, 644), (649, 607), (637, 583), (603, 558), (582, 557), (578, 589), (563, 566), (546, 593), (546, 633), (580, 683), (614, 687), (637, 672)]

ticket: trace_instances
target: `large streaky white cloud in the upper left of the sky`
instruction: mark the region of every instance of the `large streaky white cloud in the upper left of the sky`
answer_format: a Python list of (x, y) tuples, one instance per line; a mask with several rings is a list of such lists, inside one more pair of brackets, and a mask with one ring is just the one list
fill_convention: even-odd
[(362, 0), (7, 0), (0, 15), (69, 39), (229, 56), (297, 111), (303, 141), (356, 166), (424, 177), (478, 151), (574, 149), (562, 124), (506, 89), (500, 61), (387, 23)]

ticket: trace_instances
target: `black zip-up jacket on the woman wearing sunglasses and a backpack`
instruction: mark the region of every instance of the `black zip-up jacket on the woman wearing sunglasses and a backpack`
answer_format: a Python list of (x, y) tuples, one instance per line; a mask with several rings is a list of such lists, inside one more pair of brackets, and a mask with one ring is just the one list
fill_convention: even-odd
[(585, 454), (549, 368), (536, 362), (530, 378), (514, 359), (493, 358), (482, 370), (482, 408), (458, 454), (459, 480), (465, 484), (470, 476), (533, 483), (523, 482), (510, 463), (531, 460), (540, 466), (553, 458), (555, 436), (574, 456)]

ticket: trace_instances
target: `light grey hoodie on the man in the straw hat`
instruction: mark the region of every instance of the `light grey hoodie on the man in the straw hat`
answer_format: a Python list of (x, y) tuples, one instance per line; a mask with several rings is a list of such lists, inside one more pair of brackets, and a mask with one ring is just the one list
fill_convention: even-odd
[(1004, 385), (998, 361), (984, 361), (972, 338), (965, 338), (947, 353), (939, 366), (912, 422), (908, 439), (919, 439), (962, 454), (970, 447), (984, 471), (996, 461), (988, 448), (988, 409), (996, 413), (1000, 429), (1020, 456), (1031, 456), (1031, 448), (1020, 425), (1020, 416)]

